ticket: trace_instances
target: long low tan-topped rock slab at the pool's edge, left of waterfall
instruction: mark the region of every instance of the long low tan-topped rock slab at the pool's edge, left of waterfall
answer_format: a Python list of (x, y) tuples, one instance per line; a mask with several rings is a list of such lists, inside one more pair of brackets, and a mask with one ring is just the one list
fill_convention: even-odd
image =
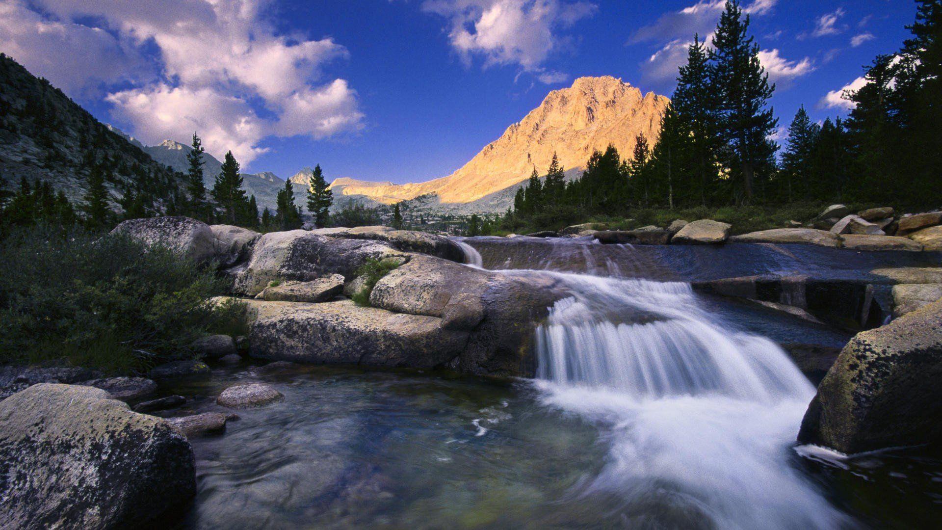
[(247, 301), (253, 357), (313, 364), (430, 368), (458, 356), (467, 333), (442, 319), (356, 306)]

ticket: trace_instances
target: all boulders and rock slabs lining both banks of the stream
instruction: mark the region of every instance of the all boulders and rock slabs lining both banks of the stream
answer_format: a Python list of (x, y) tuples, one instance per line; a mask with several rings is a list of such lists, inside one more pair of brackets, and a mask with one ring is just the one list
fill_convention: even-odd
[[(917, 230), (907, 219), (894, 221), (897, 230), (924, 233), (925, 227)], [(869, 229), (853, 219), (845, 224), (855, 225)], [(676, 231), (666, 238), (655, 230), (588, 234), (573, 228), (572, 235), (603, 243), (716, 245), (730, 240), (777, 248), (819, 244), (847, 252), (929, 248), (924, 242), (915, 248), (914, 238), (804, 227), (730, 238), (728, 224), (708, 220), (673, 224)], [(455, 240), (384, 226), (261, 235), (177, 217), (126, 222), (115, 231), (170, 245), (229, 278), (232, 295), (212, 303), (232, 299), (244, 304), (249, 335), (206, 337), (191, 350), (219, 365), (240, 363), (244, 356), (274, 361), (260, 371), (290, 369), (298, 362), (532, 376), (534, 329), (550, 306), (571, 295), (551, 274), (469, 267)], [(848, 246), (853, 237), (861, 239), (851, 239)], [(366, 289), (364, 266), (383, 260), (388, 271)], [(942, 295), (942, 268), (870, 274), (858, 281), (752, 276), (694, 285), (869, 330), (839, 355), (801, 344), (789, 347), (808, 371), (827, 373), (805, 415), (798, 437), (803, 443), (854, 453), (942, 437), (934, 422), (942, 395), (933, 385), (942, 374), (942, 301), (936, 301)], [(889, 294), (881, 298), (875, 290)], [(348, 299), (356, 293), (364, 293), (365, 306)], [(882, 325), (885, 320), (892, 322)], [(5, 521), (118, 527), (186, 504), (195, 492), (187, 437), (223, 432), (239, 408), (284, 399), (277, 390), (248, 381), (221, 392), (219, 411), (174, 417), (189, 396), (154, 395), (166, 382), (209, 374), (199, 359), (155, 367), (146, 378), (105, 377), (74, 367), (0, 369), (0, 464), (12, 477), (0, 490), (0, 497), (9, 500)], [(43, 479), (58, 469), (67, 472), (54, 481)]]

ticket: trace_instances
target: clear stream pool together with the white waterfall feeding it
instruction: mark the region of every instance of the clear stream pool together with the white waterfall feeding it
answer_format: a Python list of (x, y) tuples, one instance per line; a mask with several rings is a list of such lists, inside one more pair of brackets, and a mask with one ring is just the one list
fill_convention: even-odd
[[(597, 262), (592, 251), (587, 263)], [(592, 270), (626, 263), (641, 271), (617, 259)], [(537, 333), (538, 380), (240, 367), (173, 389), (206, 396), (192, 412), (217, 409), (213, 396), (237, 381), (285, 395), (240, 412), (224, 436), (192, 440), (199, 493), (178, 525), (937, 524), (937, 455), (796, 452), (814, 389), (760, 336), (777, 321), (743, 322), (685, 283), (509, 273), (554, 274), (575, 293)]]

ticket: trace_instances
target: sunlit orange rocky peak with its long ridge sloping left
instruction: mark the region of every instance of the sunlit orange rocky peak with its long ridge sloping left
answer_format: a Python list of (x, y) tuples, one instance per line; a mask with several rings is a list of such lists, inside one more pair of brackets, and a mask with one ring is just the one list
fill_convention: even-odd
[[(419, 184), (338, 179), (332, 186), (386, 204), (433, 194), (439, 207), (499, 211), (512, 200), (512, 193), (500, 191), (527, 179), (534, 167), (544, 173), (554, 152), (564, 168), (580, 170), (593, 150), (604, 151), (609, 143), (627, 156), (639, 134), (654, 143), (669, 103), (609, 75), (579, 77), (572, 87), (549, 92), (538, 108), (453, 174)], [(501, 200), (486, 201), (486, 207), (472, 204), (495, 196)]]

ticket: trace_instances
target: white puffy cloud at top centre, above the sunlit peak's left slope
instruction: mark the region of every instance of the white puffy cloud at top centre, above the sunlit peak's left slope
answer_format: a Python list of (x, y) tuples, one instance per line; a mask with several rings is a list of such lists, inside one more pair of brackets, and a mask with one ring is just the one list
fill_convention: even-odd
[(448, 41), (465, 64), (482, 58), (485, 68), (517, 65), (544, 83), (563, 76), (544, 67), (552, 53), (571, 42), (562, 30), (597, 9), (566, 0), (426, 0), (422, 8), (448, 19)]

